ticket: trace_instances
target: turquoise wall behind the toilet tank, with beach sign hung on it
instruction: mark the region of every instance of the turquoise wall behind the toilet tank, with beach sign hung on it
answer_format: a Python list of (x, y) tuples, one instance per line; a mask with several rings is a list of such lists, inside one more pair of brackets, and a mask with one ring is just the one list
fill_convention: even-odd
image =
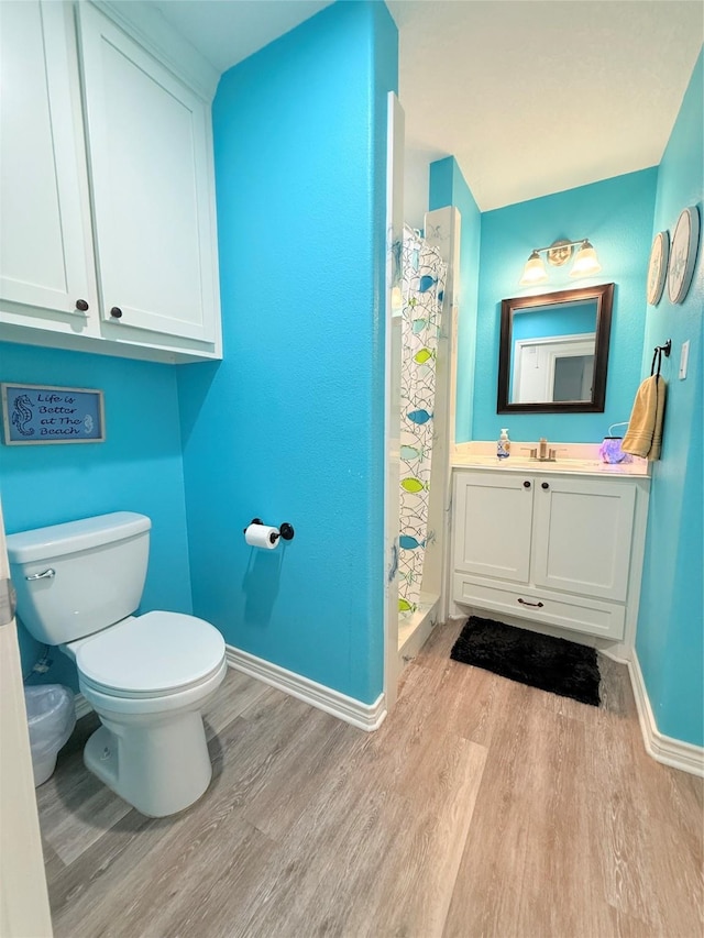
[[(142, 609), (191, 611), (176, 369), (102, 355), (0, 343), (0, 380), (105, 391), (107, 440), (84, 445), (0, 446), (6, 529), (57, 525), (107, 511), (152, 519)], [(19, 629), (22, 666), (42, 650)], [(52, 652), (42, 683), (78, 688), (75, 665)]]

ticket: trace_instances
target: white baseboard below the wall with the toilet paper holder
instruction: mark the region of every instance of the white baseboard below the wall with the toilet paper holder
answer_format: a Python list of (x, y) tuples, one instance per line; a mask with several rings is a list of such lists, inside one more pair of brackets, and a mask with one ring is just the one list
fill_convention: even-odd
[(263, 681), (366, 732), (378, 729), (386, 716), (384, 694), (380, 694), (373, 704), (363, 704), (354, 697), (348, 697), (346, 694), (341, 694), (339, 691), (326, 687), (324, 684), (318, 684), (309, 677), (287, 671), (278, 664), (272, 664), (271, 661), (256, 658), (231, 644), (226, 644), (226, 656), (230, 667)]

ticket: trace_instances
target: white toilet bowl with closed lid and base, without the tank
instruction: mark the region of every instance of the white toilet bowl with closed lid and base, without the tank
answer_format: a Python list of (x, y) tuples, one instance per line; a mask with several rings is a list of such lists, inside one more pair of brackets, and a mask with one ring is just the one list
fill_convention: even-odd
[(150, 817), (197, 801), (212, 774), (200, 711), (227, 671), (220, 632), (194, 616), (146, 613), (62, 650), (102, 722), (87, 768)]

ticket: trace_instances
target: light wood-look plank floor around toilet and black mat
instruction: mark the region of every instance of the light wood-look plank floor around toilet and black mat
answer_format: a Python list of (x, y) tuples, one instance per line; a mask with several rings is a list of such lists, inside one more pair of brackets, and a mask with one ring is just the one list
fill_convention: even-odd
[(62, 938), (701, 938), (702, 782), (600, 709), (449, 660), (438, 627), (375, 733), (230, 671), (213, 782), (160, 820), (82, 765), (37, 790)]

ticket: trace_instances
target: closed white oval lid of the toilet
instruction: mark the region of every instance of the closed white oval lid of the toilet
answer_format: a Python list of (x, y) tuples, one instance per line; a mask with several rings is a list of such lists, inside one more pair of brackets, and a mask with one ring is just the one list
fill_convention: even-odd
[(210, 622), (180, 613), (146, 613), (82, 643), (76, 664), (96, 688), (144, 696), (197, 684), (223, 658), (224, 640)]

